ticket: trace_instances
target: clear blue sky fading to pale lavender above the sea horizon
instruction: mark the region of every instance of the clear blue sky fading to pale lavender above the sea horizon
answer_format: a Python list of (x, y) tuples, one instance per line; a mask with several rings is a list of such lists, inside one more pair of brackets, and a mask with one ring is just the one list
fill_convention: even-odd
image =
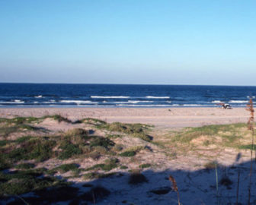
[(256, 85), (256, 1), (2, 0), (0, 82)]

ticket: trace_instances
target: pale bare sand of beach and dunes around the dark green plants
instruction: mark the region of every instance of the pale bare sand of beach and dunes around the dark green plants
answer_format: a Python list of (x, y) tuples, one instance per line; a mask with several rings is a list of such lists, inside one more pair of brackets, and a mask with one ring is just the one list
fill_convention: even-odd
[[(155, 125), (155, 128), (146, 130), (147, 134), (152, 136), (152, 141), (142, 140), (142, 138), (134, 137), (133, 134), (122, 131), (98, 128), (90, 123), (70, 123), (56, 121), (53, 118), (45, 118), (39, 123), (32, 122), (30, 125), (38, 128), (34, 131), (19, 129), (16, 132), (10, 132), (5, 138), (0, 136), (3, 141), (11, 140), (11, 143), (13, 143), (14, 140), (22, 136), (30, 135), (38, 139), (38, 137), (48, 134), (53, 136), (53, 139), (57, 139), (56, 144), (58, 144), (62, 140), (65, 141), (65, 138), (58, 138), (58, 136), (66, 136), (65, 134), (68, 132), (72, 133), (70, 132), (72, 129), (80, 128), (92, 131), (91, 134), (88, 134), (91, 137), (88, 139), (98, 136), (101, 138), (109, 137), (121, 149), (114, 150), (116, 147), (114, 146), (110, 148), (112, 149), (111, 154), (108, 154), (104, 147), (98, 146), (98, 148), (101, 148), (101, 150), (98, 149), (99, 158), (94, 158), (91, 153), (83, 153), (82, 155), (74, 154), (68, 159), (58, 159), (53, 156), (43, 162), (21, 160), (21, 162), (34, 162), (37, 168), (48, 170), (54, 170), (65, 164), (77, 164), (80, 170), (77, 175), (74, 175), (73, 172), (57, 172), (54, 176), (66, 178), (72, 182), (72, 186), (79, 188), (82, 191), (81, 193), (90, 190), (91, 187), (85, 185), (107, 188), (110, 191), (110, 196), (97, 204), (178, 204), (177, 194), (171, 190), (171, 184), (168, 181), (169, 175), (177, 181), (182, 204), (213, 205), (217, 203), (217, 200), (221, 201), (218, 204), (235, 204), (235, 187), (238, 181), (238, 173), (241, 184), (238, 202), (244, 204), (245, 197), (248, 196), (251, 153), (248, 149), (238, 148), (239, 145), (246, 147), (251, 143), (251, 133), (246, 125), (213, 126), (213, 128), (199, 128), (198, 130), (185, 128), (236, 122), (245, 123), (248, 121), (250, 113), (244, 108), (230, 110), (221, 108), (0, 109), (0, 118), (13, 118), (15, 116), (41, 117), (55, 114), (62, 115), (72, 121), (82, 118), (99, 118), (107, 122), (120, 121)], [(2, 126), (4, 125), (3, 123)], [(2, 131), (5, 131), (5, 128)], [(82, 139), (79, 138), (79, 134), (75, 137)], [(75, 141), (69, 141), (69, 143), (75, 144)], [(56, 151), (56, 147), (54, 149)], [(96, 149), (96, 147), (93, 149)], [(136, 150), (136, 155), (129, 157), (121, 155), (121, 153), (125, 153), (125, 150), (131, 149)], [(58, 149), (56, 152), (62, 153), (62, 150)], [(91, 150), (91, 152), (94, 152), (94, 150)], [(112, 158), (117, 158), (117, 166), (114, 166), (110, 171), (91, 169), (91, 167), (102, 165), (107, 162), (106, 160)], [(149, 165), (149, 167), (142, 168), (142, 165)], [(122, 166), (125, 168), (121, 169)], [(15, 168), (12, 168), (12, 170), (15, 170)], [(142, 173), (148, 180), (147, 183), (142, 183), (142, 181), (138, 185), (130, 185), (131, 172)], [(216, 197), (215, 187), (216, 172), (219, 175), (220, 194), (218, 197)], [(87, 175), (98, 173), (106, 174), (106, 176), (86, 178)], [(222, 183), (222, 179), (227, 181), (226, 178), (229, 179), (229, 184)], [(252, 180), (256, 180), (255, 175)], [(255, 184), (252, 185), (251, 190), (254, 189)], [(166, 191), (166, 193), (161, 194), (161, 191)], [(160, 194), (155, 194), (158, 192)], [(251, 201), (256, 201), (254, 195), (251, 196)]]

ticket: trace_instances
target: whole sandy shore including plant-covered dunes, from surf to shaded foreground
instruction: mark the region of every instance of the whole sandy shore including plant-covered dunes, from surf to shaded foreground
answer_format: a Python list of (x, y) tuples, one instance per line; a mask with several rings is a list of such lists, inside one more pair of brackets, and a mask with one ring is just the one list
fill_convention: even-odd
[[(245, 123), (248, 117), (244, 108), (0, 109), (0, 169), (11, 171), (0, 178), (4, 181), (0, 183), (0, 203), (21, 204), (17, 197), (5, 197), (8, 193), (20, 194), (30, 204), (95, 204), (91, 193), (96, 193), (97, 204), (102, 205), (178, 204), (168, 180), (171, 175), (182, 204), (235, 204), (238, 173), (238, 201), (244, 203), (251, 132), (247, 125), (233, 123)], [(112, 123), (115, 121), (155, 127)], [(9, 180), (10, 175), (14, 179)], [(21, 175), (29, 182), (27, 189), (16, 179)], [(43, 183), (34, 175), (42, 175)], [(49, 177), (54, 185), (59, 183), (59, 189), (47, 190)], [(62, 185), (59, 178), (72, 185)], [(39, 185), (43, 191), (37, 191)], [(30, 197), (31, 193), (37, 197)], [(52, 198), (48, 197), (51, 193)], [(59, 193), (57, 201), (55, 193)]]

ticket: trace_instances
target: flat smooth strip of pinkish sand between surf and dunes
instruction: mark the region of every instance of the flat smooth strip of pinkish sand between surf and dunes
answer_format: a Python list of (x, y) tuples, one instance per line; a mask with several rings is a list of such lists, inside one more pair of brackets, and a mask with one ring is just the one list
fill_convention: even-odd
[(142, 123), (161, 128), (199, 127), (203, 125), (246, 122), (245, 108), (10, 108), (0, 109), (1, 118), (14, 116), (62, 115), (75, 121), (99, 118), (107, 122)]

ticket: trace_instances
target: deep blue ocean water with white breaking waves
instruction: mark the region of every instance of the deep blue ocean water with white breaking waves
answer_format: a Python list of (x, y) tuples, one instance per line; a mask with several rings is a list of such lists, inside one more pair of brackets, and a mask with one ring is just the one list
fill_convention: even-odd
[[(2, 107), (245, 107), (256, 87), (0, 84)], [(256, 102), (256, 99), (255, 99)]]

